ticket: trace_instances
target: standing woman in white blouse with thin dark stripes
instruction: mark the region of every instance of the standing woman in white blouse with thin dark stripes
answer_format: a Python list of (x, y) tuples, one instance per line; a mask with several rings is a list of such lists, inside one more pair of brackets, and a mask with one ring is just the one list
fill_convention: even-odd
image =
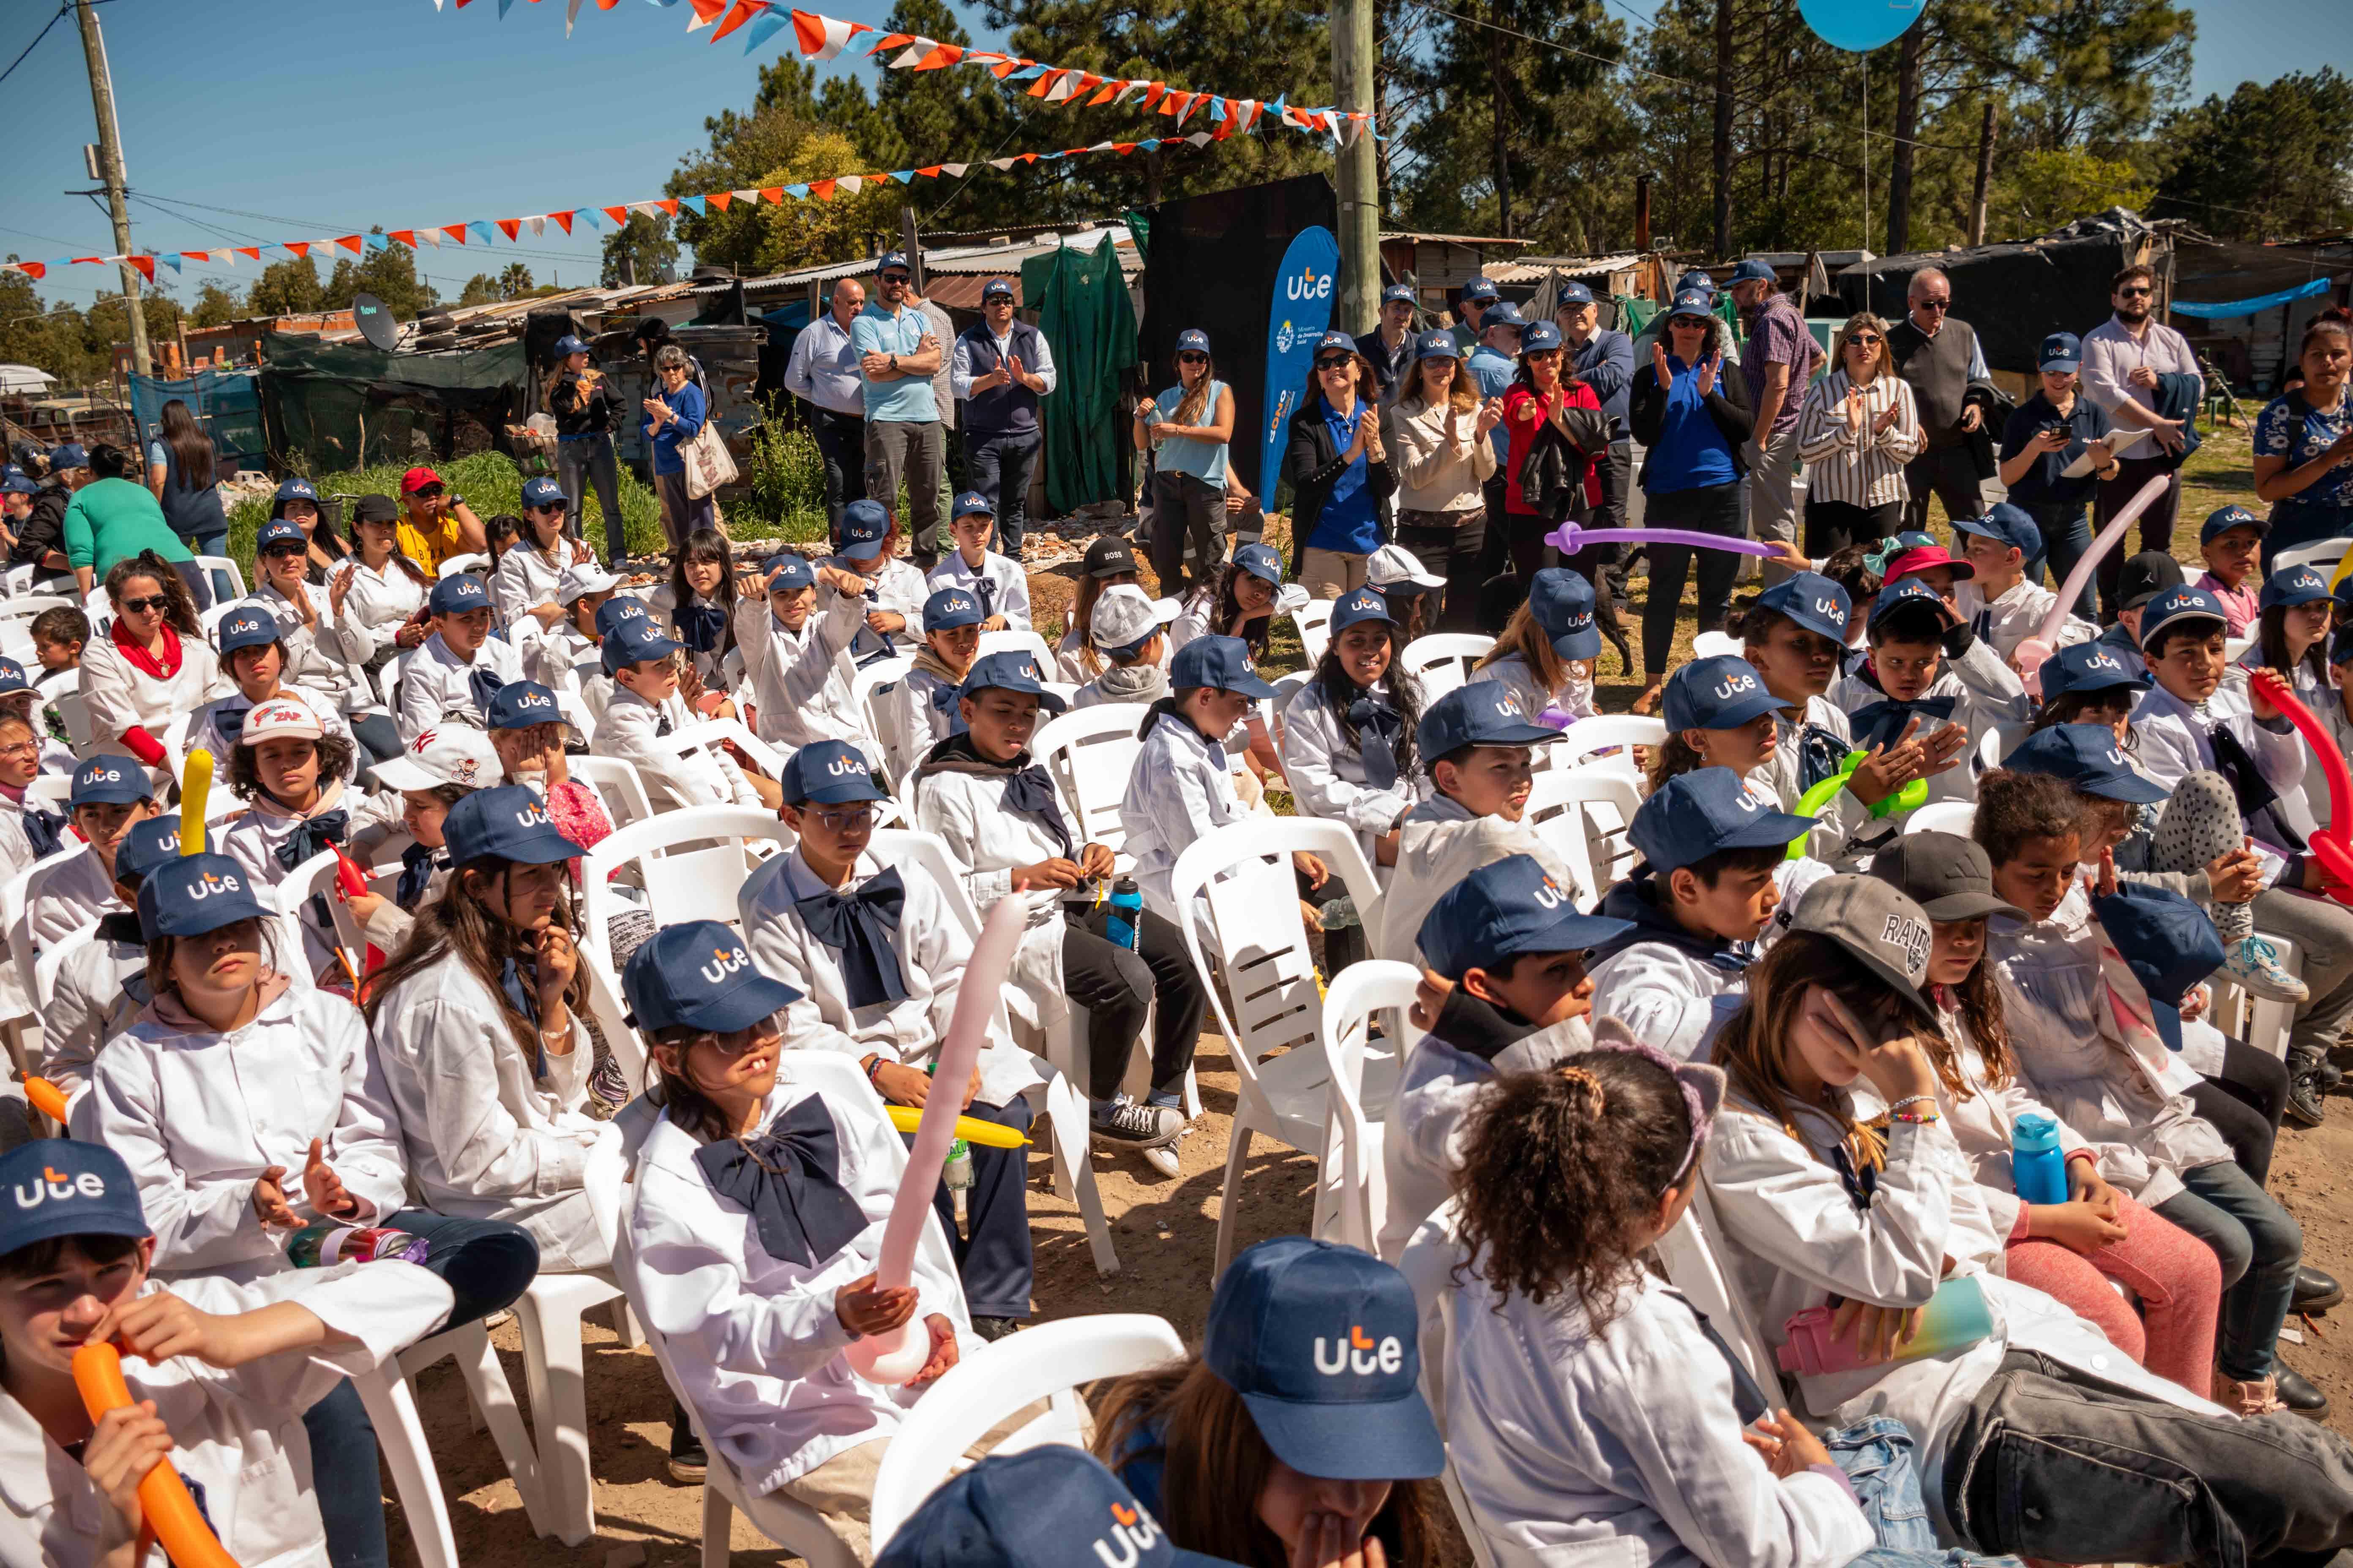
[(1911, 383), (1887, 353), (1887, 322), (1849, 315), (1831, 357), (1835, 369), (1807, 388), (1798, 411), (1805, 552), (1814, 559), (1897, 531), (1904, 465), (1925, 440)]

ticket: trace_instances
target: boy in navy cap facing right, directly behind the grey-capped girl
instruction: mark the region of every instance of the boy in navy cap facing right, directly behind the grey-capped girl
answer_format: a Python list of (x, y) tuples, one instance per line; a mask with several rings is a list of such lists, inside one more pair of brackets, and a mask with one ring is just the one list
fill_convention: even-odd
[(1626, 832), (1642, 858), (1602, 896), (1600, 912), (1626, 929), (1595, 945), (1593, 1011), (1689, 1060), (1715, 999), (1748, 983), (1755, 940), (1781, 907), (1774, 872), (1812, 825), (1760, 802), (1732, 769), (1666, 780)]

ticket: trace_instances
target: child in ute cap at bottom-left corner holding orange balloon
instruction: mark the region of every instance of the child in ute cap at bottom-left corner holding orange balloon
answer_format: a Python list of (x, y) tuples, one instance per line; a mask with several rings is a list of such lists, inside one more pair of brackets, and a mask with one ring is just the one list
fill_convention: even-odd
[[(452, 1291), (402, 1260), (287, 1269), (256, 1284), (148, 1274), (155, 1241), (113, 1150), (49, 1138), (0, 1154), (0, 1192), (75, 1201), (0, 1206), (0, 1528), (26, 1561), (122, 1568), (146, 1559), (136, 1479), (169, 1462), (240, 1563), (327, 1568), (318, 1495), (336, 1479), (301, 1418), (346, 1378), (435, 1333)], [(132, 1403), (89, 1420), (73, 1352), (106, 1326)], [(367, 1490), (381, 1495), (367, 1453)], [(348, 1481), (348, 1479), (346, 1479)], [(118, 1502), (120, 1500), (120, 1502)]]

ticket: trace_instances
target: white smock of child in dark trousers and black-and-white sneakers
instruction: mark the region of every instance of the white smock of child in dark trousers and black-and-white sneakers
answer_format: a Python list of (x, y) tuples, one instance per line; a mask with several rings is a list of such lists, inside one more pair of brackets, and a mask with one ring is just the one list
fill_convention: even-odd
[[(1028, 766), (1028, 755), (1019, 757)], [(1047, 1025), (1071, 1011), (1061, 978), (1061, 938), (1071, 924), (1061, 917), (1064, 889), (1014, 891), (1012, 867), (1038, 865), (1066, 856), (1078, 858), (1085, 835), (1078, 823), (1064, 816), (1071, 830), (1071, 849), (1047, 832), (1045, 823), (1026, 811), (1005, 806), (1007, 773), (981, 771), (972, 764), (946, 764), (920, 769), (908, 790), (915, 797), (915, 825), (939, 835), (948, 846), (948, 860), (962, 872), (965, 891), (981, 919), (1000, 898), (1019, 898), (1024, 910), (1021, 947), (1014, 950), (1012, 987), (1005, 1006), (1028, 1025)]]

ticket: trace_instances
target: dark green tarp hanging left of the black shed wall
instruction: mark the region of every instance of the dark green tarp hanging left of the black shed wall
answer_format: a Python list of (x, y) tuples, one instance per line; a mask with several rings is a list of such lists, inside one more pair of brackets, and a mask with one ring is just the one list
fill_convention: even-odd
[(1064, 244), (1024, 261), (1021, 299), (1038, 301), (1038, 331), (1054, 348), (1056, 383), (1038, 404), (1047, 508), (1066, 515), (1092, 501), (1127, 501), (1134, 449), (1120, 440), (1120, 397), (1139, 362), (1136, 308), (1111, 235), (1092, 254)]

